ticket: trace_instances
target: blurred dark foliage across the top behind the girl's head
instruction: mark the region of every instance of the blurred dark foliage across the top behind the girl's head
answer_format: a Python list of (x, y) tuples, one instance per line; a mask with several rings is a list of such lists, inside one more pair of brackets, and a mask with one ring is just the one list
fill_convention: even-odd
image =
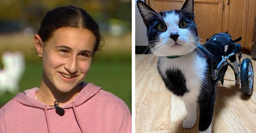
[[(131, 0), (0, 1), (0, 32), (1, 28), (15, 27), (14, 25), (16, 25), (17, 30), (23, 30), (28, 26), (34, 26), (38, 30), (40, 22), (47, 11), (59, 6), (67, 5), (74, 5), (83, 8), (98, 23), (104, 23), (106, 20), (114, 18), (124, 22), (129, 22), (131, 27)], [(10, 25), (9, 22), (12, 22), (12, 25)]]

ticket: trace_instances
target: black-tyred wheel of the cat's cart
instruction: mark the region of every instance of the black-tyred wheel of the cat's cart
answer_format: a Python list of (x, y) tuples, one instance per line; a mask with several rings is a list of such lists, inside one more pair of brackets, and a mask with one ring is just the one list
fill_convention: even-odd
[(240, 68), (242, 91), (246, 96), (253, 93), (253, 64), (249, 58), (243, 59)]

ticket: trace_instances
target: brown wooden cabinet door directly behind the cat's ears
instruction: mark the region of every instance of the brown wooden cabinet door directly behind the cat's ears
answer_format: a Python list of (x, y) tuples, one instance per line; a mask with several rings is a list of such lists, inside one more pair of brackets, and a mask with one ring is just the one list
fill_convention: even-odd
[[(185, 0), (146, 0), (158, 12), (180, 10)], [(213, 34), (222, 32), (223, 0), (194, 0), (195, 22), (199, 37), (206, 40)]]

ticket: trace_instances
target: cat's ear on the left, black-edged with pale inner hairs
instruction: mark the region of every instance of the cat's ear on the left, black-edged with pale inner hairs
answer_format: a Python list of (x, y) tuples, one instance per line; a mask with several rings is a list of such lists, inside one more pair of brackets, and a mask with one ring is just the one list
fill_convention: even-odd
[(157, 13), (150, 6), (148, 6), (146, 3), (138, 0), (137, 1), (137, 6), (138, 6), (138, 9), (140, 11), (140, 15), (143, 18), (143, 22), (146, 25), (146, 27), (149, 25), (149, 21), (152, 18), (158, 17), (156, 15)]

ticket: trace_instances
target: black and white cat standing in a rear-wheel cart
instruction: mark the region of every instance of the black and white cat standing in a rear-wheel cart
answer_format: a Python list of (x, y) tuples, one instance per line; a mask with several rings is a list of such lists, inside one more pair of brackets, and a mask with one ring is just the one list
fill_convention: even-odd
[[(227, 65), (221, 69), (217, 80), (210, 77), (209, 54), (202, 52), (198, 46), (199, 37), (194, 22), (194, 0), (186, 0), (181, 10), (156, 12), (142, 1), (137, 6), (147, 27), (148, 46), (151, 52), (158, 56), (157, 69), (168, 90), (182, 97), (187, 118), (183, 121), (183, 128), (192, 128), (197, 119), (199, 107), (199, 131), (211, 132), (215, 85), (222, 80)], [(213, 58), (216, 69), (226, 53), (223, 47), (214, 44), (203, 45)], [(231, 57), (229, 63), (239, 84), (239, 69), (236, 57)]]

